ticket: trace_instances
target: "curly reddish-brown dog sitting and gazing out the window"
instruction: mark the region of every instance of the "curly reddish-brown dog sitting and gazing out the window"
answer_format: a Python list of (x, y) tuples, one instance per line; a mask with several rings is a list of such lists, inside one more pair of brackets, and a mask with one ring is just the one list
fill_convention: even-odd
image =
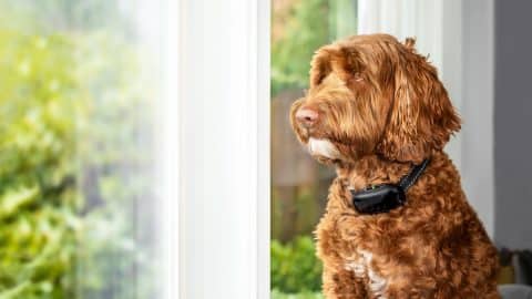
[[(310, 89), (291, 106), (299, 141), (337, 169), (316, 230), (326, 298), (500, 298), (497, 249), (443, 153), (460, 118), (413, 45), (375, 34), (323, 47)], [(410, 188), (397, 187), (424, 162)], [(406, 199), (354, 205), (382, 184)]]

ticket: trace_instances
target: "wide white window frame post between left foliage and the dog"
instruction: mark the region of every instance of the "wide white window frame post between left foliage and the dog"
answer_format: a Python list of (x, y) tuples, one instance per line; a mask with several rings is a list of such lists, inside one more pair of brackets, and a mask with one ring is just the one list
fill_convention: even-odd
[(269, 298), (270, 3), (167, 3), (164, 298)]

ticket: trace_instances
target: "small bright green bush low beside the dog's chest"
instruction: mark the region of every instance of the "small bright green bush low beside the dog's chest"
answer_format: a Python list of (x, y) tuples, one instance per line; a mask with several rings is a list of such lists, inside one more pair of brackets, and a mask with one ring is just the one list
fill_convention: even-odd
[(321, 264), (310, 237), (296, 237), (286, 245), (272, 240), (270, 257), (272, 289), (287, 293), (321, 289)]

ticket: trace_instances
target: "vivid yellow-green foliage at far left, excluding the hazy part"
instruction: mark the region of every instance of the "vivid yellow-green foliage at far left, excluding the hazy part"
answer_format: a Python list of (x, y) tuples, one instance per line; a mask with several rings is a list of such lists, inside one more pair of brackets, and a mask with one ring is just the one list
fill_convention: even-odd
[(12, 31), (0, 31), (0, 296), (71, 297), (72, 43)]

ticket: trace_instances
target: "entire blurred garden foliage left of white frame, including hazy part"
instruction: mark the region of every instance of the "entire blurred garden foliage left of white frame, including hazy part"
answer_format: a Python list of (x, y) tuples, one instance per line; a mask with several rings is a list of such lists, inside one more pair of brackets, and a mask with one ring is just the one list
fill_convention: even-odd
[(152, 298), (137, 209), (153, 196), (155, 94), (139, 48), (3, 25), (0, 45), (0, 298)]

